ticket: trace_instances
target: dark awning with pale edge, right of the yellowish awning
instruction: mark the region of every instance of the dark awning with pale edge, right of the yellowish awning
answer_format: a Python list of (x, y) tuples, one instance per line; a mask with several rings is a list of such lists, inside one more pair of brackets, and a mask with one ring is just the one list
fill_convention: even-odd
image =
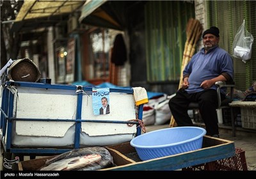
[[(118, 19), (115, 19), (115, 17), (111, 15), (111, 8), (109, 8), (111, 3), (113, 4), (115, 2), (107, 2), (107, 0), (86, 1), (81, 8), (79, 22), (92, 26), (123, 30), (123, 27), (120, 22), (118, 22)], [(108, 8), (104, 8), (104, 6), (108, 6)]]

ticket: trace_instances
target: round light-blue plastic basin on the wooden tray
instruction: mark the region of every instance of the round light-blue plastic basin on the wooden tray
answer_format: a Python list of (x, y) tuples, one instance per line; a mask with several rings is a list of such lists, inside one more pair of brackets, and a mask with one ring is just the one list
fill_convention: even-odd
[(201, 127), (163, 128), (134, 137), (130, 144), (141, 160), (149, 160), (198, 150), (205, 134)]

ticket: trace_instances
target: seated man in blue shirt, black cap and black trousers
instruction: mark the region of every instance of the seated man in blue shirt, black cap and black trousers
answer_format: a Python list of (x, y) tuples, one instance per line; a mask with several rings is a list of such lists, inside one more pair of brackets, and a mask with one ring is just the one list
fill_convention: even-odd
[[(180, 126), (192, 126), (188, 115), (190, 102), (198, 102), (206, 135), (219, 137), (216, 81), (233, 80), (233, 61), (228, 52), (218, 46), (220, 42), (218, 27), (211, 27), (203, 33), (204, 47), (189, 61), (183, 71), (182, 88), (169, 101), (172, 115)], [(225, 91), (222, 91), (225, 98)]]

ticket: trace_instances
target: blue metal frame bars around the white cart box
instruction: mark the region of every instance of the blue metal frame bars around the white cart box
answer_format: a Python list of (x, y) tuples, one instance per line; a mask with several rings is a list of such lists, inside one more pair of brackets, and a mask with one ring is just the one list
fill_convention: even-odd
[[(8, 90), (7, 86), (21, 86), (28, 88), (46, 88), (46, 89), (68, 89), (74, 90), (77, 94), (77, 113), (76, 119), (32, 119), (32, 118), (13, 118), (13, 94)], [(136, 136), (141, 134), (141, 123), (142, 114), (143, 114), (143, 104), (139, 105), (136, 109), (136, 116), (138, 116), (138, 121), (97, 121), (97, 120), (83, 120), (81, 119), (81, 110), (82, 110), (82, 100), (84, 91), (92, 91), (92, 88), (97, 88), (95, 86), (75, 86), (75, 85), (60, 85), (60, 84), (44, 84), (39, 82), (13, 82), (6, 81), (3, 87), (2, 93), (2, 104), (1, 104), (1, 145), (3, 145), (4, 153), (3, 157), (10, 159), (12, 154), (28, 155), (32, 158), (35, 158), (37, 155), (56, 155), (58, 153), (68, 152), (72, 149), (80, 148), (80, 132), (81, 132), (81, 123), (83, 122), (104, 122), (104, 123), (130, 123), (137, 125)], [(133, 94), (132, 88), (109, 88), (109, 92), (118, 92), (118, 93), (128, 93)], [(24, 121), (74, 121), (76, 125), (75, 137), (74, 137), (74, 148), (32, 148), (32, 147), (15, 147), (12, 146), (12, 125), (13, 121), (24, 120)], [(4, 139), (6, 137), (6, 139)], [(5, 142), (6, 141), (6, 142)], [(12, 157), (13, 158), (13, 157)], [(21, 159), (22, 160), (22, 159)]]

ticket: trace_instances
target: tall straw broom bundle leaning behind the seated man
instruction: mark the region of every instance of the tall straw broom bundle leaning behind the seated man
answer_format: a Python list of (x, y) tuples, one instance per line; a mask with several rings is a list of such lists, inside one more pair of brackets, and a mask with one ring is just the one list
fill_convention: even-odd
[[(182, 58), (182, 65), (180, 70), (180, 81), (178, 89), (182, 87), (183, 81), (183, 70), (185, 66), (190, 61), (191, 57), (195, 53), (196, 43), (198, 42), (200, 36), (202, 35), (202, 25), (200, 24), (199, 20), (196, 19), (189, 19), (187, 27), (186, 27), (186, 36), (187, 40), (184, 47), (183, 58)], [(175, 119), (171, 118), (170, 127), (176, 127), (177, 123)]]

